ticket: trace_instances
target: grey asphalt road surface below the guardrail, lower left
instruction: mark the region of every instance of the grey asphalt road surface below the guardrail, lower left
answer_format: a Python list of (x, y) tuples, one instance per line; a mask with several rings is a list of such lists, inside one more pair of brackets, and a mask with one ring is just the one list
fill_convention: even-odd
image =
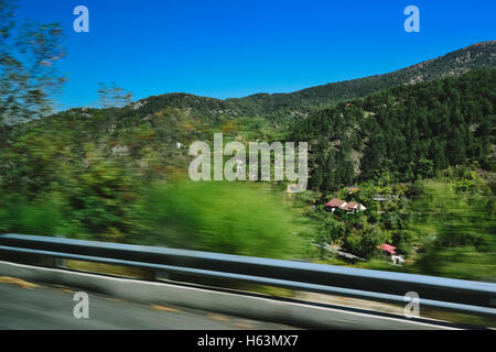
[(89, 318), (76, 319), (73, 300), (76, 289), (25, 282), (0, 283), (0, 329), (14, 330), (279, 330), (292, 329), (208, 311), (173, 306), (132, 302), (87, 293)]

